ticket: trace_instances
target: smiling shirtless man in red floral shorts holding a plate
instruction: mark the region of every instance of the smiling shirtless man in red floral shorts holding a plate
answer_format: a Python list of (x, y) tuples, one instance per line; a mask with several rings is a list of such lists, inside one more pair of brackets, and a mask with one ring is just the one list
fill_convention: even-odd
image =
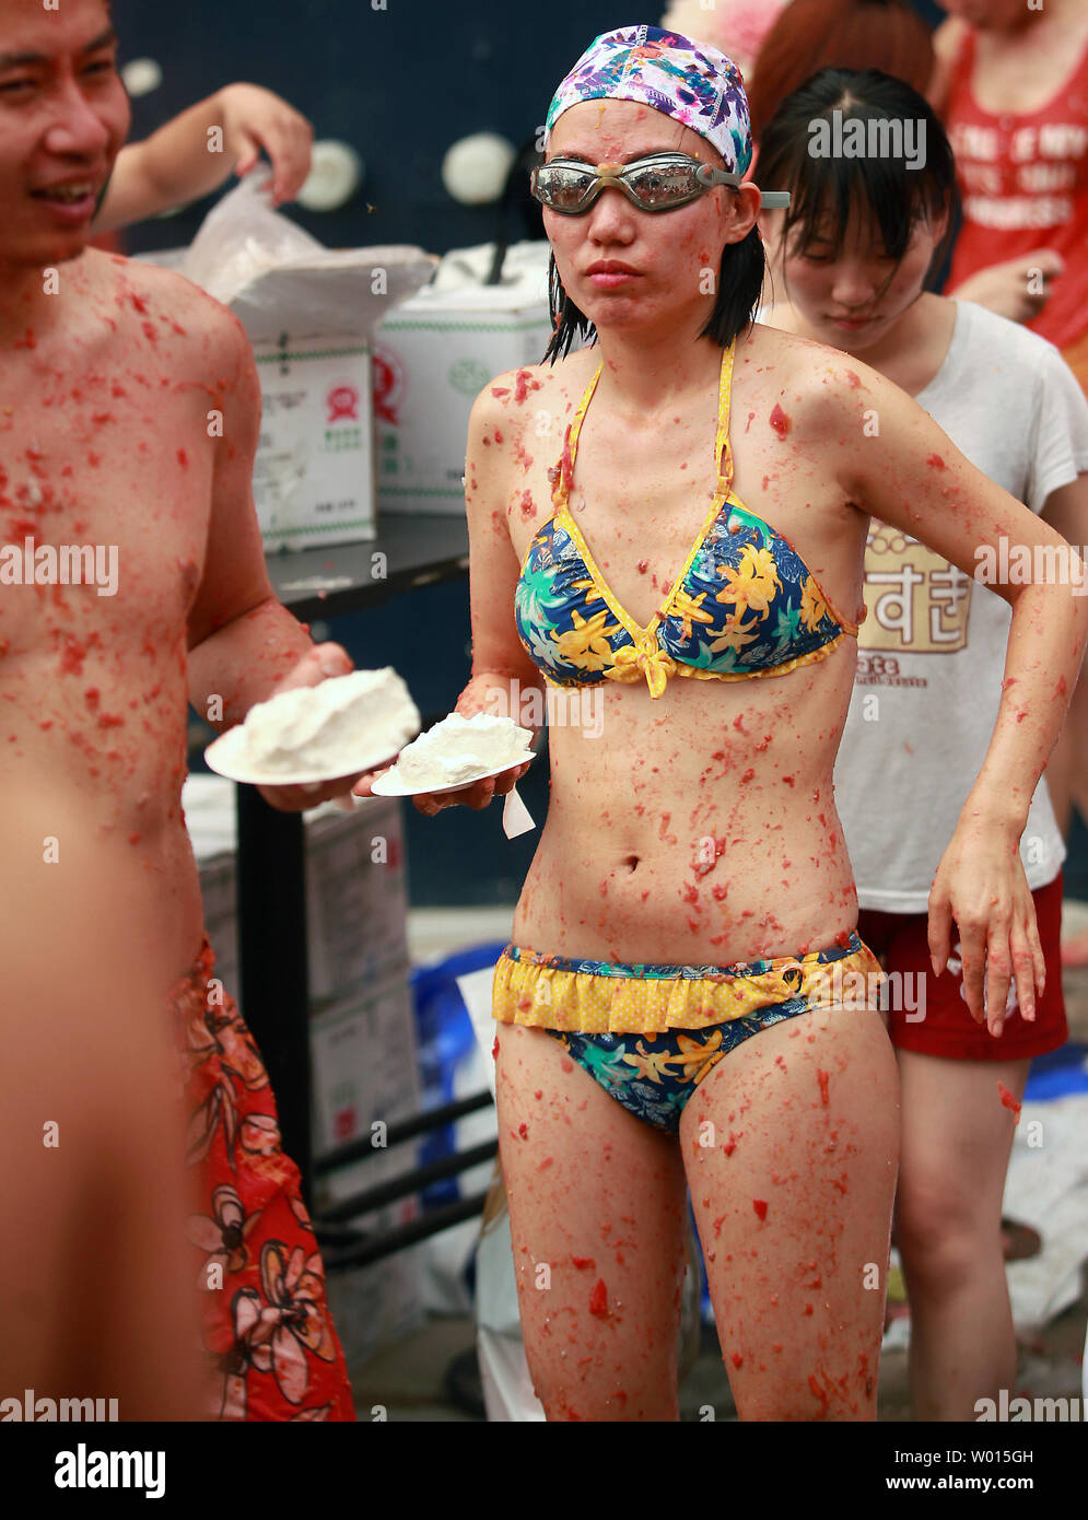
[[(129, 942), (147, 947), (187, 1046), (204, 1207), (190, 1219), (191, 1278), (205, 1289), (216, 1411), (353, 1418), (267, 1076), (211, 980), (181, 812), (187, 701), (208, 713), (220, 696), (225, 730), (275, 690), (351, 663), (315, 648), (272, 596), (242, 328), (181, 277), (87, 248), (129, 125), (115, 47), (108, 0), (0, 0), (0, 796), (33, 778), (38, 796), (52, 787), (77, 804), (65, 813), (81, 830), (74, 854), (94, 859), (87, 844), (102, 842)], [(94, 584), (27, 584), (27, 541), (91, 546)], [(264, 795), (301, 810), (346, 786)], [(41, 844), (21, 869), (38, 879)], [(84, 868), (85, 894), (100, 886)]]

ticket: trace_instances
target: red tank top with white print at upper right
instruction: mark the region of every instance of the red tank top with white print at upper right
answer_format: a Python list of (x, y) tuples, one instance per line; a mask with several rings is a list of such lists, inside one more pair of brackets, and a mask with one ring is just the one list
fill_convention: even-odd
[(1027, 325), (1068, 348), (1088, 331), (1088, 47), (1038, 111), (1001, 114), (974, 97), (974, 44), (968, 32), (945, 109), (963, 201), (947, 289), (1006, 258), (1055, 248), (1065, 274)]

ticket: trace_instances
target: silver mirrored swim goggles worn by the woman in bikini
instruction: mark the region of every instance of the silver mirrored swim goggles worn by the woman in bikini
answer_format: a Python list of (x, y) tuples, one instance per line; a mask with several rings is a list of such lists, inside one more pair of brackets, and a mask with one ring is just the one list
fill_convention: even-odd
[[(740, 184), (740, 175), (702, 164), (687, 154), (650, 154), (626, 166), (596, 167), (577, 158), (553, 158), (547, 164), (538, 164), (529, 178), (533, 196), (559, 216), (584, 216), (606, 188), (621, 190), (640, 211), (673, 211), (711, 185), (737, 190)], [(767, 208), (789, 204), (787, 190), (763, 193), (763, 205)]]

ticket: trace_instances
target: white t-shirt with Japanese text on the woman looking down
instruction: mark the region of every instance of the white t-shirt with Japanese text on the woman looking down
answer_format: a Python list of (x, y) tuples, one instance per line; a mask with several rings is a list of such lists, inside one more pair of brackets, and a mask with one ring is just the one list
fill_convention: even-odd
[[(976, 468), (1033, 512), (1088, 471), (1088, 401), (1058, 350), (971, 301), (956, 301), (948, 353), (916, 400)], [(860, 906), (924, 914), (994, 733), (1012, 610), (875, 518), (865, 602), (836, 806)], [(1045, 780), (1020, 853), (1032, 891), (1065, 859)]]

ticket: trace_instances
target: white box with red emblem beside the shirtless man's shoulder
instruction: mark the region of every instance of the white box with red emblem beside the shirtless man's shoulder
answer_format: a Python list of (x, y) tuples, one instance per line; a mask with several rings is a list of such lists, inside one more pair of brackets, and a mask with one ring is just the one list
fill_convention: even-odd
[(266, 552), (374, 538), (369, 348), (325, 337), (255, 344), (254, 357), (261, 382), (254, 502)]

